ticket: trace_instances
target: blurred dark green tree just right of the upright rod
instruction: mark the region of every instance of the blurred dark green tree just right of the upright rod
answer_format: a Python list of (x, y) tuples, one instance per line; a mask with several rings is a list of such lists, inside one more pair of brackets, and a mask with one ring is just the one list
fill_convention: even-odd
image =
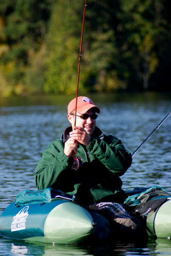
[(115, 28), (117, 24), (117, 1), (89, 0), (85, 35), (87, 71), (85, 84), (93, 91), (125, 89), (119, 79), (118, 49)]

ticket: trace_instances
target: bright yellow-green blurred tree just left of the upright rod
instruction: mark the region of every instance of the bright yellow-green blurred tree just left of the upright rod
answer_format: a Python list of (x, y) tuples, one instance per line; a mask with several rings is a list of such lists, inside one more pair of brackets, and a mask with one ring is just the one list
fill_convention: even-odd
[(59, 0), (54, 6), (47, 34), (45, 92), (76, 91), (83, 10), (83, 1)]

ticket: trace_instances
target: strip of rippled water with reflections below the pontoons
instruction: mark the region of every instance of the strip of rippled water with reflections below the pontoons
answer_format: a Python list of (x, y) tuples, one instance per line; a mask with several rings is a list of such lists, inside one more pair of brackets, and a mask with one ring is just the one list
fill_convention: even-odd
[[(170, 255), (171, 243), (168, 239), (158, 239), (156, 242), (142, 246), (134, 243), (113, 243), (101, 246), (59, 245), (29, 243), (20, 241), (7, 241), (2, 239), (1, 248), (6, 249), (10, 255), (42, 255), (42, 256), (69, 256), (69, 255), (106, 255), (106, 256), (138, 256), (138, 255)], [(3, 254), (5, 255), (5, 254)], [(9, 255), (9, 254), (8, 254)]]

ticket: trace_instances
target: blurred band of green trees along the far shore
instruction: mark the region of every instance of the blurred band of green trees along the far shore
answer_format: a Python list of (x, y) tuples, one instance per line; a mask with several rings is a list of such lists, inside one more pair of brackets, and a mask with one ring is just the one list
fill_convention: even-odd
[[(169, 0), (88, 0), (79, 90), (170, 90)], [(74, 93), (84, 1), (0, 2), (0, 91)]]

